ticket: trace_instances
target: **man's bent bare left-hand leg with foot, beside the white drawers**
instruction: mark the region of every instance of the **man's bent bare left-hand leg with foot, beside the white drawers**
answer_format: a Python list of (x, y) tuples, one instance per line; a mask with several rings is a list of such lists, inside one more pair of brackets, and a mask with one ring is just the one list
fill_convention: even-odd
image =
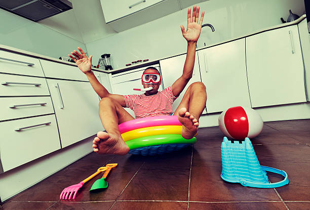
[(117, 101), (102, 98), (99, 103), (99, 116), (105, 132), (98, 132), (93, 141), (94, 152), (98, 154), (127, 154), (129, 147), (125, 144), (119, 131), (119, 124), (134, 119)]

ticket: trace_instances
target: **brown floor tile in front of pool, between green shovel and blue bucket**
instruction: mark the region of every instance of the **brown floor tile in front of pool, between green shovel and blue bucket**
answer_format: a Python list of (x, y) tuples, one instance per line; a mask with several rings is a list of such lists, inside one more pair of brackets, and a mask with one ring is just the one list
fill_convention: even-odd
[(145, 163), (118, 200), (188, 200), (189, 167)]

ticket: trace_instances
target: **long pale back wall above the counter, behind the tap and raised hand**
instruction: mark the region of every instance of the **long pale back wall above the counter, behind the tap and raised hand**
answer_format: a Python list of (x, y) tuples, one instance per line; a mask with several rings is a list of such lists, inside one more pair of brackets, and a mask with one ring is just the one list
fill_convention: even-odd
[[(304, 13), (303, 0), (211, 0), (198, 4), (206, 11), (203, 23), (214, 26), (202, 30), (198, 47), (212, 45), (220, 41), (243, 36), (262, 28), (281, 24), (280, 18), (287, 19), (293, 13)], [(186, 41), (180, 24), (186, 27), (187, 9), (173, 13), (158, 20), (111, 35), (91, 43), (87, 50), (97, 64), (100, 55), (109, 53), (113, 68), (138, 59), (155, 60), (186, 52)]]

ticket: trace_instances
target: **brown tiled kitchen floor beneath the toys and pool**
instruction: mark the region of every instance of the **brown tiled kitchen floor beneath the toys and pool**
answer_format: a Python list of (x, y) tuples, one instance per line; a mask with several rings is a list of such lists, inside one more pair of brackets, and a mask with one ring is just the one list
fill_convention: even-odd
[[(198, 142), (160, 156), (97, 155), (74, 162), (0, 205), (7, 209), (310, 209), (310, 119), (265, 122), (251, 139), (261, 165), (287, 172), (290, 184), (273, 189), (224, 182), (218, 127), (199, 130)], [(79, 183), (99, 166), (119, 165), (109, 187), (90, 193), (86, 183), (74, 200), (59, 200), (63, 188)], [(282, 179), (269, 174), (271, 182)]]

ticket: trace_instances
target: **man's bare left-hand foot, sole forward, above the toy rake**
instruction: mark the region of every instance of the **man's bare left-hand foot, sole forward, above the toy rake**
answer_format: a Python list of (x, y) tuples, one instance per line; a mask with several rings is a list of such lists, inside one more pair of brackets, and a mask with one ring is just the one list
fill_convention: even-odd
[(93, 141), (94, 152), (98, 154), (120, 154), (125, 155), (129, 152), (129, 147), (122, 137), (99, 131)]

